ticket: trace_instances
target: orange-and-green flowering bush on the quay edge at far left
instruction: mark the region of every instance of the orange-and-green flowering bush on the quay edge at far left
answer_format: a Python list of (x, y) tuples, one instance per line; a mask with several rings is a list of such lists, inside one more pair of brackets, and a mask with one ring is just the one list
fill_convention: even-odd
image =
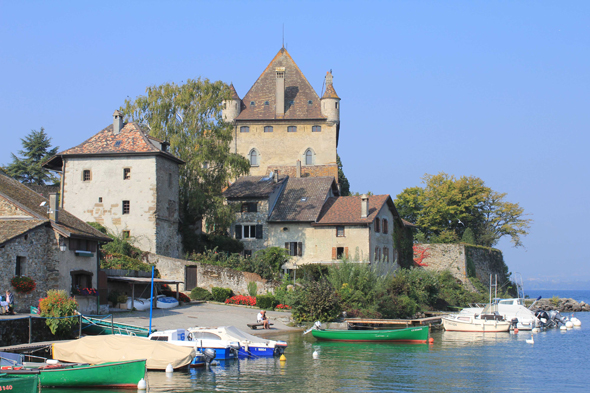
[(39, 299), (39, 311), (42, 317), (48, 318), (45, 323), (51, 333), (69, 337), (72, 328), (78, 324), (77, 318), (63, 318), (76, 315), (78, 303), (74, 298), (68, 297), (64, 290), (47, 291), (47, 297)]

